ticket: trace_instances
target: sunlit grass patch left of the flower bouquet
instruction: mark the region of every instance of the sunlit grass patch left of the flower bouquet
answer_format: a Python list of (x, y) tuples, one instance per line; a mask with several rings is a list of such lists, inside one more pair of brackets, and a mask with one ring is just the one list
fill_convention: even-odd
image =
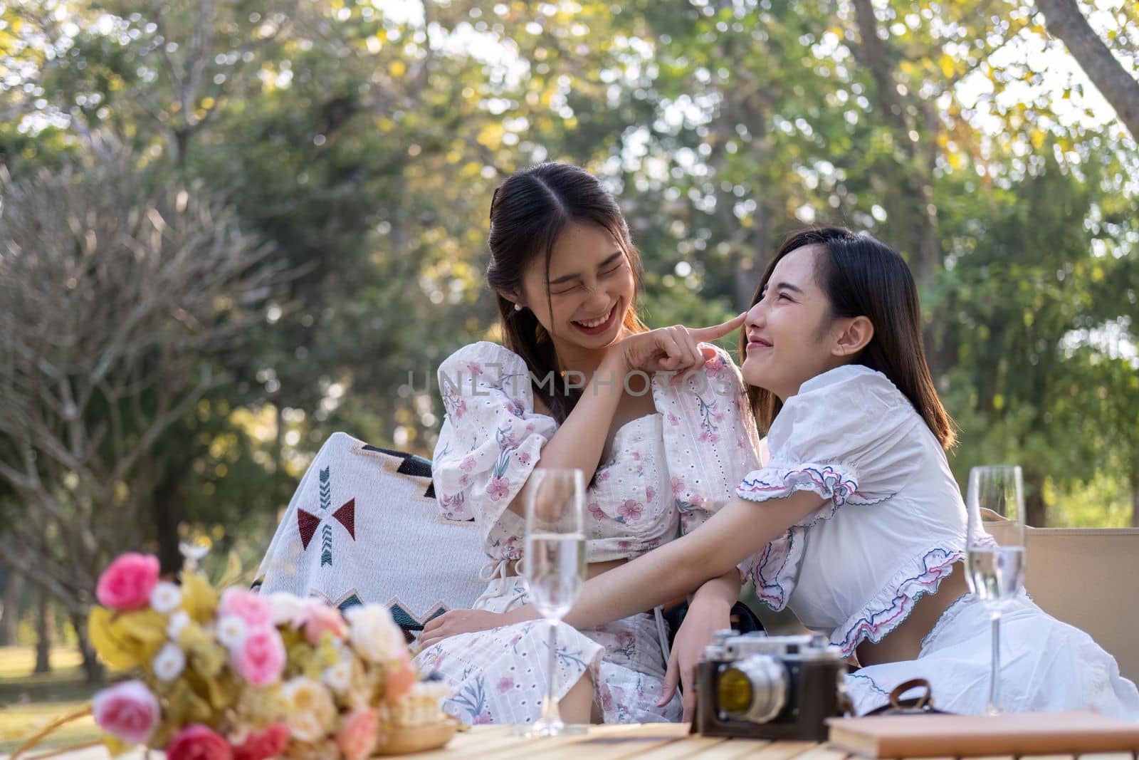
[[(32, 673), (35, 651), (30, 646), (0, 647), (0, 754), (19, 746), (56, 718), (74, 712), (91, 698), (95, 687), (83, 680), (74, 648), (51, 651), (50, 673)], [(59, 728), (40, 746), (65, 746), (99, 737), (90, 717)]]

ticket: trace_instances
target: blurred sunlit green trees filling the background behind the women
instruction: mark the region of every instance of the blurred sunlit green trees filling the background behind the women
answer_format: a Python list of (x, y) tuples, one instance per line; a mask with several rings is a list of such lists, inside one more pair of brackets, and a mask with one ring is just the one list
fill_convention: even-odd
[[(3, 7), (0, 154), (24, 172), (113, 136), (223, 191), (295, 269), (256, 349), (226, 359), (237, 382), (155, 447), (183, 532), (255, 561), (335, 430), (431, 455), (425, 373), (495, 335), (491, 193), (543, 158), (617, 191), (650, 325), (736, 313), (808, 221), (898, 245), (958, 476), (1021, 461), (1051, 523), (1129, 520), (1139, 152), (1079, 81), (1033, 68), (1067, 54), (1030, 5), (136, 5)], [(1106, 18), (1133, 64), (1134, 25)]]

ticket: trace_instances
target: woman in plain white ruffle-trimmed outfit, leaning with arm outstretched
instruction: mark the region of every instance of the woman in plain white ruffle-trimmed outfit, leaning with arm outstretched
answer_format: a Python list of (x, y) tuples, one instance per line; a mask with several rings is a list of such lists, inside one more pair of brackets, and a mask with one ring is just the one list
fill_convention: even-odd
[[(857, 713), (918, 677), (939, 708), (983, 713), (990, 613), (965, 581), (967, 512), (945, 459), (953, 426), (906, 262), (846, 229), (793, 235), (755, 292), (740, 350), (770, 458), (700, 528), (587, 582), (566, 621), (596, 626), (659, 604), (751, 556), (764, 603), (790, 606), (858, 657), (846, 679)], [(1134, 684), (1087, 634), (1025, 594), (1002, 626), (1009, 711), (1139, 719)], [(706, 638), (680, 631), (681, 665)]]

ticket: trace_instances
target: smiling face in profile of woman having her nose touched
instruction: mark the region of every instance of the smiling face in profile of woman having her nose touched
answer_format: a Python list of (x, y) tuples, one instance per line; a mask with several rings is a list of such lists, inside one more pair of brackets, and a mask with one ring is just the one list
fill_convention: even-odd
[(833, 352), (830, 302), (816, 281), (816, 256), (823, 254), (808, 245), (780, 259), (744, 321), (744, 379), (782, 401), (810, 378), (843, 363)]

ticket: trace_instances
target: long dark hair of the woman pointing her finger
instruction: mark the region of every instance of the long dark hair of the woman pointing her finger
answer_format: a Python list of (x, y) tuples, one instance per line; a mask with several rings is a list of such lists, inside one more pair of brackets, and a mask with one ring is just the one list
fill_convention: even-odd
[[(515, 172), (502, 182), (491, 199), (489, 245), (491, 261), (486, 283), (495, 293), (499, 320), (506, 346), (522, 357), (531, 371), (535, 398), (546, 402), (558, 423), (570, 416), (581, 391), (566, 387), (554, 341), (530, 309), (515, 310), (505, 296), (522, 293), (526, 269), (540, 258), (544, 260), (547, 279), (554, 245), (567, 224), (588, 222), (608, 230), (617, 242), (633, 270), (640, 289), (640, 254), (632, 244), (629, 224), (613, 194), (580, 166), (549, 162)], [(547, 303), (551, 302), (549, 288)], [(552, 311), (552, 305), (551, 305)], [(624, 327), (646, 330), (637, 316), (636, 293), (629, 304)], [(555, 383), (543, 383), (554, 373)]]

